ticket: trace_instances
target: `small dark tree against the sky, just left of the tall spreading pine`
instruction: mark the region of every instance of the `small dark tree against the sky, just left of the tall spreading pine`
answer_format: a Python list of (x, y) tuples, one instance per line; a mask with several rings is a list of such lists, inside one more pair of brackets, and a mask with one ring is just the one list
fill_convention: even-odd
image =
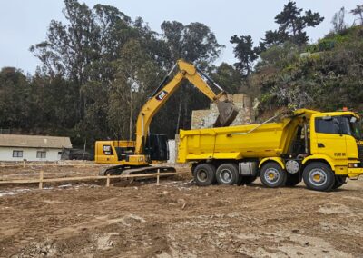
[(235, 67), (243, 75), (250, 75), (252, 72), (253, 62), (258, 58), (256, 50), (253, 49), (253, 41), (250, 35), (233, 35), (230, 40), (231, 44), (236, 44), (233, 48), (234, 56), (240, 61), (235, 63)]

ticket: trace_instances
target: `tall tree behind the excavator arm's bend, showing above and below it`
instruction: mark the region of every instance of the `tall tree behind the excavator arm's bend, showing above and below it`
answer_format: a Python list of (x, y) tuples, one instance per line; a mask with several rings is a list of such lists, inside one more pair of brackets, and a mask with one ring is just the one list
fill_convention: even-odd
[[(207, 68), (206, 66), (210, 66), (217, 59), (224, 47), (217, 42), (211, 29), (201, 23), (183, 25), (176, 21), (164, 21), (162, 32), (163, 39), (169, 45), (169, 53), (171, 54), (168, 67), (172, 67), (178, 59), (182, 58)], [(166, 104), (165, 109), (162, 110), (162, 117), (170, 118), (171, 122), (165, 126), (174, 126), (173, 130), (169, 129), (168, 131), (178, 134), (180, 127), (190, 127), (191, 111), (205, 108), (208, 104), (209, 100), (203, 97), (191, 84), (182, 84), (181, 91), (174, 94)]]

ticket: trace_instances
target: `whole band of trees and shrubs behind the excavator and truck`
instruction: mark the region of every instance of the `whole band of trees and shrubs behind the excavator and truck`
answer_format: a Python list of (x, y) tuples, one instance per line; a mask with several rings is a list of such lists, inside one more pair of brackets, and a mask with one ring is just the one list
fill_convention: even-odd
[[(342, 8), (333, 30), (309, 44), (307, 28), (324, 17), (289, 1), (256, 46), (232, 35), (235, 64), (214, 65), (224, 45), (201, 23), (164, 21), (158, 34), (141, 17), (132, 20), (110, 5), (64, 0), (66, 22), (52, 20), (43, 42), (30, 46), (34, 74), (0, 72), (0, 129), (13, 134), (72, 137), (74, 145), (98, 139), (132, 139), (142, 104), (183, 58), (229, 93), (260, 101), (260, 114), (282, 106), (362, 110), (363, 26), (349, 27)], [(363, 5), (352, 10), (363, 23)], [(243, 28), (240, 28), (241, 30)], [(173, 138), (191, 126), (191, 111), (209, 100), (184, 83), (154, 118), (151, 133)], [(3, 131), (4, 132), (4, 131)]]

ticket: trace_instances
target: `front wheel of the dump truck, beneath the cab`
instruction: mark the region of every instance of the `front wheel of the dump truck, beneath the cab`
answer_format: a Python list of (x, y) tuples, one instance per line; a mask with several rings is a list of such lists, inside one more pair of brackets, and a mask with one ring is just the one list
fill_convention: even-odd
[(334, 173), (328, 164), (314, 162), (307, 165), (302, 173), (306, 186), (315, 191), (328, 192), (335, 183)]

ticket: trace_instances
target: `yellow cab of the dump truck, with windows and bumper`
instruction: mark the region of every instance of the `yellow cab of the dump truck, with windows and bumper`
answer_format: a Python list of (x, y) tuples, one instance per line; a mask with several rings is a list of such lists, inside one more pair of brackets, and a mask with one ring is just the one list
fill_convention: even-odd
[(362, 174), (360, 140), (358, 114), (348, 111), (313, 114), (310, 118), (310, 155), (303, 164), (321, 159), (337, 176), (356, 177)]

